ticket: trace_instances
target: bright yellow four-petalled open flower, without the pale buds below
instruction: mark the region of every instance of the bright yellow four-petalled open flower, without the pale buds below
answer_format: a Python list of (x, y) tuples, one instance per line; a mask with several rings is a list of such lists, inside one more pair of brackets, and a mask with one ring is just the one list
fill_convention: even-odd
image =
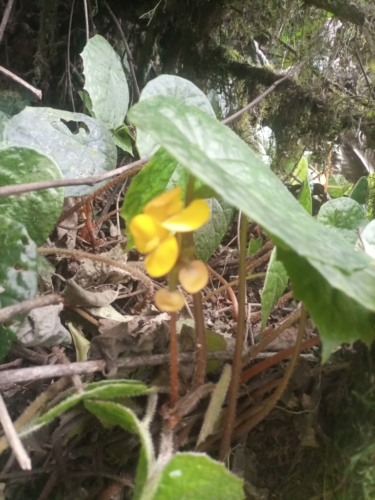
[(159, 277), (169, 272), (178, 258), (178, 243), (173, 233), (193, 231), (208, 217), (209, 208), (203, 199), (195, 199), (182, 209), (180, 187), (147, 203), (143, 213), (130, 220), (129, 230), (136, 249), (147, 253), (144, 264), (148, 274)]

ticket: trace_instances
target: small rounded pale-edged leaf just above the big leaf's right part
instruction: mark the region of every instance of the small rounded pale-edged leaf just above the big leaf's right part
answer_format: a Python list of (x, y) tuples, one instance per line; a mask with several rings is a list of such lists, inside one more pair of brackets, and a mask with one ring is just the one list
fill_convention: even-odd
[(317, 220), (352, 244), (358, 239), (358, 229), (368, 223), (363, 208), (352, 198), (327, 201), (320, 207)]

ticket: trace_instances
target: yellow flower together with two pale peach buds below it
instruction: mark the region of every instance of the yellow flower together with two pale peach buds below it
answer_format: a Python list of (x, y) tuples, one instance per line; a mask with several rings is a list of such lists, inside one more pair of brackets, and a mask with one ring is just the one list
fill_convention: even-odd
[[(201, 260), (182, 258), (176, 233), (194, 231), (209, 217), (203, 199), (194, 199), (183, 209), (181, 188), (175, 187), (157, 196), (129, 222), (129, 230), (138, 251), (146, 253), (144, 264), (150, 276), (159, 277), (178, 266), (178, 279), (188, 293), (201, 290), (208, 281), (206, 265)], [(179, 239), (180, 241), (180, 239)], [(164, 310), (183, 306), (183, 295), (176, 290), (160, 289), (156, 305)]]

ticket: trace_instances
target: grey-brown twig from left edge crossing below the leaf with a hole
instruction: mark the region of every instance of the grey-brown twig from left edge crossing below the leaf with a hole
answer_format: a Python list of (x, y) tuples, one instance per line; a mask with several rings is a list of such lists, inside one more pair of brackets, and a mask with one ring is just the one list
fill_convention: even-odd
[[(1, 66), (0, 66), (1, 71)], [(100, 175), (93, 175), (91, 177), (83, 177), (81, 179), (54, 179), (54, 180), (40, 180), (39, 182), (28, 182), (25, 184), (11, 184), (8, 186), (0, 187), (0, 196), (11, 196), (13, 194), (21, 194), (22, 192), (29, 191), (39, 191), (40, 189), (48, 189), (49, 187), (59, 187), (59, 186), (77, 186), (77, 185), (88, 185), (92, 186), (101, 182), (102, 180), (109, 179), (111, 177), (117, 177), (121, 173), (133, 173), (139, 170), (147, 161), (150, 160), (150, 156), (133, 161), (128, 165), (121, 166), (119, 168), (114, 168), (108, 172), (102, 173)]]

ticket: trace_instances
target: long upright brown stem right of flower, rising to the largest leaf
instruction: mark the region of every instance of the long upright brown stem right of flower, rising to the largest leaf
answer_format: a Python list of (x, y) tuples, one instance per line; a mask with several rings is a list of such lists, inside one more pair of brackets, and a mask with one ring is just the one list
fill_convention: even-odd
[(247, 216), (241, 213), (239, 240), (239, 271), (238, 271), (238, 320), (235, 335), (235, 349), (232, 366), (232, 376), (228, 390), (228, 406), (226, 408), (223, 436), (220, 442), (219, 460), (223, 460), (229, 451), (230, 440), (235, 419), (235, 405), (239, 387), (239, 374), (241, 371), (242, 344), (245, 327), (245, 293), (246, 293), (246, 236)]

